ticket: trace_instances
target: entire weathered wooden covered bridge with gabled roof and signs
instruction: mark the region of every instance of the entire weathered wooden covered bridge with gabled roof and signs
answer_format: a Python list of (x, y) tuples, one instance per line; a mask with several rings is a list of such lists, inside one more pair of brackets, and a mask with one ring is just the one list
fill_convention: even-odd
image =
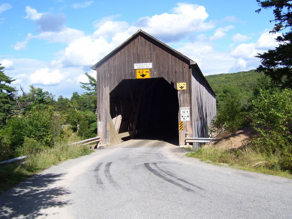
[(139, 137), (206, 138), (215, 93), (196, 62), (142, 30), (91, 67), (102, 144)]

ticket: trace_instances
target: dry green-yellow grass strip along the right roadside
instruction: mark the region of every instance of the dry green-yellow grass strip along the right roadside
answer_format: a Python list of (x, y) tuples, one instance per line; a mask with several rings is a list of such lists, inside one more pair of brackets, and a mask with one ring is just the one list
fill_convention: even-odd
[(263, 154), (256, 147), (248, 145), (227, 150), (218, 147), (201, 147), (195, 152), (187, 153), (186, 156), (215, 165), (228, 164), (231, 168), (292, 179), (289, 171), (281, 170), (280, 157), (277, 154)]

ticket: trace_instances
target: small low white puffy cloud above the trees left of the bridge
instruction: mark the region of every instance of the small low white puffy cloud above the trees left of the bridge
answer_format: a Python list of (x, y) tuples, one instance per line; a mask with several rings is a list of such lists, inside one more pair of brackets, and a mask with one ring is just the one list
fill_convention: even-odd
[(42, 84), (45, 86), (59, 84), (67, 75), (67, 73), (60, 73), (59, 69), (49, 72), (48, 68), (36, 70), (30, 74), (29, 79), (32, 84)]

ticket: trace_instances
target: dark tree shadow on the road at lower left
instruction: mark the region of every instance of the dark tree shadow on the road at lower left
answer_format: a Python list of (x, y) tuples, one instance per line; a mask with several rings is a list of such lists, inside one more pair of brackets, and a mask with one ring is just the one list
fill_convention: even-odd
[(51, 185), (60, 180), (62, 174), (36, 175), (8, 190), (0, 196), (0, 218), (36, 218), (47, 216), (40, 211), (70, 204), (62, 197), (70, 192), (61, 186)]

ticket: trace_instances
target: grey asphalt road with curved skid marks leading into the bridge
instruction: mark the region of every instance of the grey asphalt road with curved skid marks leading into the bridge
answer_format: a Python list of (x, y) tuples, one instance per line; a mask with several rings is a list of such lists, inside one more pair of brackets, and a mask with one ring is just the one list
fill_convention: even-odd
[(214, 166), (130, 140), (2, 194), (0, 218), (292, 218), (292, 180)]

